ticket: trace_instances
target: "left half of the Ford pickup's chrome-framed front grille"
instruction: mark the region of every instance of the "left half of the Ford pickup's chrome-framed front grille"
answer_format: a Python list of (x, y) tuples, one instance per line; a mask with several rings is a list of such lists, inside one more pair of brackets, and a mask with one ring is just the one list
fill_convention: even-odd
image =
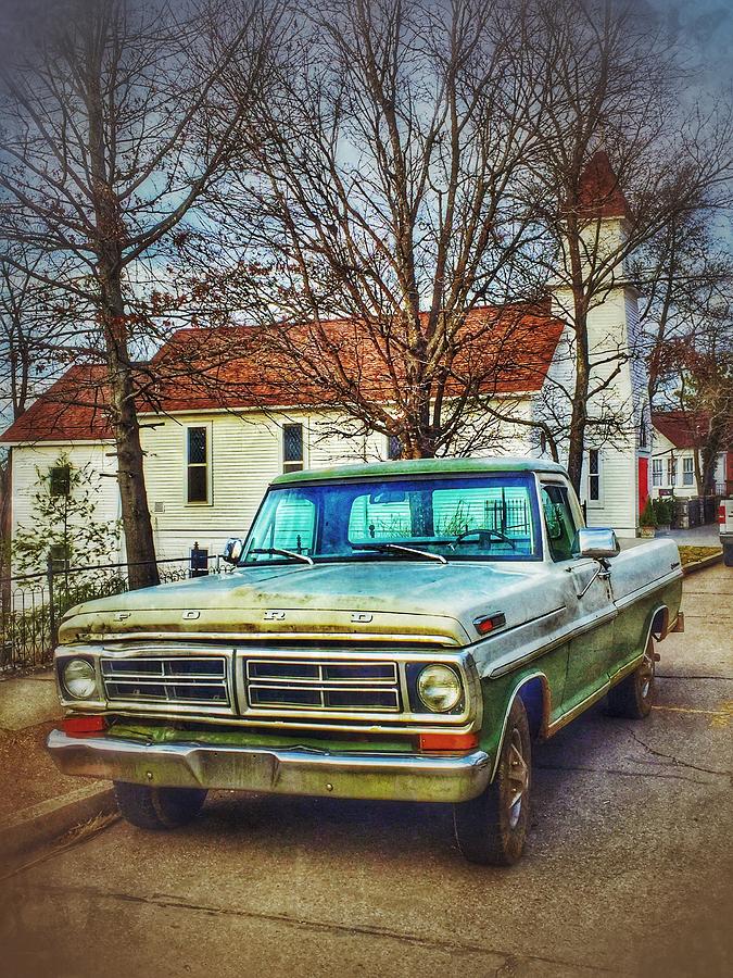
[(229, 705), (223, 656), (102, 659), (110, 701)]

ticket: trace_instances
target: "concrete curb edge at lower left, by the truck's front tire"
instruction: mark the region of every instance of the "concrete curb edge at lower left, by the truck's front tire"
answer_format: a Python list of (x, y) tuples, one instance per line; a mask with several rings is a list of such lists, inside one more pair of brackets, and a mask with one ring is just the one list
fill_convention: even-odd
[(97, 815), (115, 812), (117, 803), (108, 786), (109, 781), (93, 781), (3, 819), (0, 822), (0, 852), (16, 855), (58, 839)]

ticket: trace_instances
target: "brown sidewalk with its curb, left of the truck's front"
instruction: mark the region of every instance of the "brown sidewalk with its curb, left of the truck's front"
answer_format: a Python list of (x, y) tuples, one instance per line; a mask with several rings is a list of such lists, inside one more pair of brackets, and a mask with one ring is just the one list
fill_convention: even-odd
[(0, 857), (111, 811), (110, 785), (67, 777), (46, 752), (61, 722), (51, 669), (0, 679)]

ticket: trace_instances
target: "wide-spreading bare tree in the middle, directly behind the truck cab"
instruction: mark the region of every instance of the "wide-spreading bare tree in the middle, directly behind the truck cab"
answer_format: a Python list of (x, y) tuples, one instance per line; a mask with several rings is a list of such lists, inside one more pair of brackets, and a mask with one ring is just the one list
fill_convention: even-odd
[(307, 5), (253, 105), (245, 176), (212, 201), (208, 254), (248, 255), (213, 280), (204, 262), (217, 302), (256, 313), (333, 430), (392, 436), (406, 457), (491, 442), (480, 404), (545, 325), (533, 306), (479, 311), (540, 294), (520, 247), (536, 95), (504, 40), (518, 24), (482, 0)]

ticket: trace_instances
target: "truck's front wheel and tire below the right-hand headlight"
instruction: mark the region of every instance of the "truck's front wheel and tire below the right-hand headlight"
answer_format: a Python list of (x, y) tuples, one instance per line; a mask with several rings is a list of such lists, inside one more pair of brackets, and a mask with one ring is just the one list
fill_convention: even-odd
[(529, 829), (532, 740), (525, 705), (509, 711), (496, 776), (482, 794), (453, 806), (458, 849), (469, 863), (510, 866), (520, 858)]

